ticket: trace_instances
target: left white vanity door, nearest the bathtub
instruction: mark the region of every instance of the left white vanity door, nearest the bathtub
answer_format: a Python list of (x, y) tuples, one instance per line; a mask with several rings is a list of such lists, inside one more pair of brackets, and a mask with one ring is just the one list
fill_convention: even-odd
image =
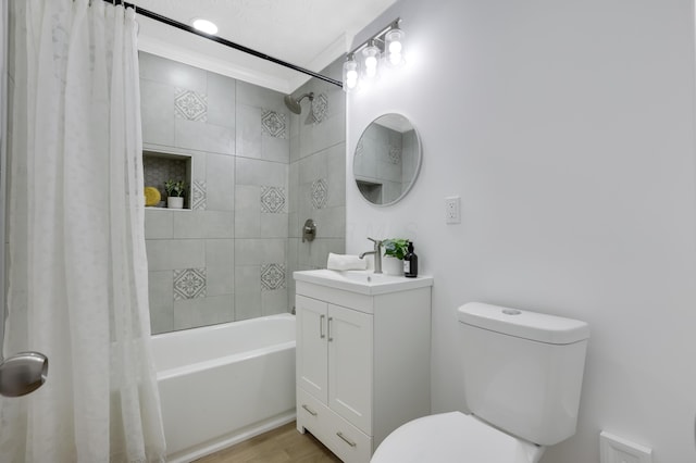
[(296, 297), (298, 386), (327, 403), (327, 308), (326, 302)]

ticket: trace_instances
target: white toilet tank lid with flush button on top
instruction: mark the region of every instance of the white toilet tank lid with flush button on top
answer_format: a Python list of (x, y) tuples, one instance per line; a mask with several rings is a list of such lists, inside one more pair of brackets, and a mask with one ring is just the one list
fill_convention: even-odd
[(459, 322), (518, 338), (551, 345), (570, 345), (589, 338), (585, 322), (483, 302), (459, 308)]

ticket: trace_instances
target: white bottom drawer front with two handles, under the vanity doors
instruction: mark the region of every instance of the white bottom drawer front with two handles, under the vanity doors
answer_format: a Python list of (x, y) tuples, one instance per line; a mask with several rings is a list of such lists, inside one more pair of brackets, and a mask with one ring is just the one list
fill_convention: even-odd
[(297, 424), (307, 428), (345, 463), (368, 463), (372, 438), (313, 396), (297, 388)]

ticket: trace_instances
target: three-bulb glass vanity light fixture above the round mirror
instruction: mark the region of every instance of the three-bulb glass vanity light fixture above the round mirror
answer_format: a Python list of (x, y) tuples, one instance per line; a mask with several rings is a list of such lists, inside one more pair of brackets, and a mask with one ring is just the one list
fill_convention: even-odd
[(355, 90), (360, 87), (361, 82), (377, 78), (383, 62), (390, 67), (399, 67), (406, 63), (405, 34), (399, 28), (400, 22), (397, 18), (347, 54), (344, 63), (344, 90)]

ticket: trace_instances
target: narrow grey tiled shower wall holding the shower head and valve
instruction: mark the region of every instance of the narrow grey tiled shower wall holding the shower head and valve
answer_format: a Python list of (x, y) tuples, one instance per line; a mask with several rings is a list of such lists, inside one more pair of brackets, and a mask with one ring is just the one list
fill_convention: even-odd
[[(341, 78), (344, 60), (322, 73)], [(328, 252), (346, 249), (346, 99), (341, 88), (311, 79), (293, 95), (314, 92), (302, 101), (302, 113), (290, 116), (289, 170), (289, 304), (294, 304), (291, 272), (326, 267)], [(316, 238), (302, 242), (304, 221), (316, 223)]]

